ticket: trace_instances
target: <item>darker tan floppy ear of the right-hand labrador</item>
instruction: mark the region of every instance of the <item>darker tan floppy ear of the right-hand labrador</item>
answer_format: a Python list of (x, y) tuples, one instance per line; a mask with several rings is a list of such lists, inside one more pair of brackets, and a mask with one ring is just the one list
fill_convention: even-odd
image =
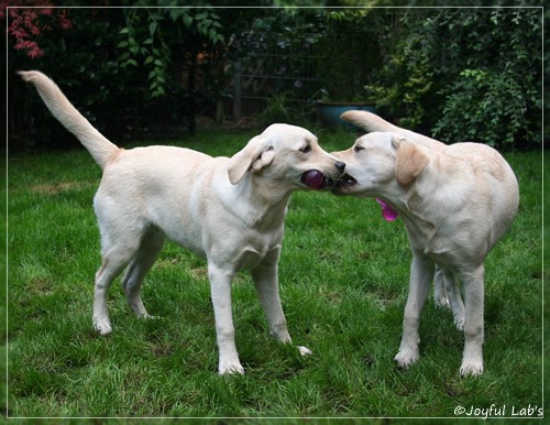
[(430, 159), (417, 144), (407, 139), (394, 137), (392, 143), (397, 150), (395, 178), (400, 186), (408, 186), (422, 173)]

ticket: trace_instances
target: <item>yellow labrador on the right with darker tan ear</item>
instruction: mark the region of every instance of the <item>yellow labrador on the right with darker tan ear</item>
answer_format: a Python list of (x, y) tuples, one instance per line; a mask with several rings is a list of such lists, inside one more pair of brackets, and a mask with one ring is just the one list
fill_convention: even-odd
[(457, 327), (464, 331), (460, 373), (481, 374), (483, 263), (516, 216), (519, 190), (514, 172), (485, 144), (446, 145), (364, 111), (341, 118), (371, 133), (333, 153), (346, 164), (346, 175), (333, 192), (380, 198), (403, 217), (413, 251), (395, 360), (407, 367), (419, 359), (420, 310), (436, 274), (436, 301), (450, 305)]

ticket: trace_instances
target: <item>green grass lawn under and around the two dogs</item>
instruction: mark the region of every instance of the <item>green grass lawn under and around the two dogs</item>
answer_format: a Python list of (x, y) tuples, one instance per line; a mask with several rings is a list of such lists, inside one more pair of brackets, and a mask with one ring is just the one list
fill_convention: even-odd
[[(353, 141), (317, 133), (328, 151)], [(175, 144), (231, 155), (251, 135), (212, 131)], [(519, 215), (486, 261), (485, 373), (460, 378), (463, 335), (431, 298), (420, 361), (395, 367), (410, 261), (403, 222), (384, 221), (373, 199), (327, 193), (294, 195), (279, 263), (290, 335), (314, 356), (268, 336), (242, 273), (233, 314), (245, 375), (219, 377), (206, 263), (175, 244), (143, 288), (161, 318), (136, 320), (113, 285), (114, 333), (100, 337), (91, 326), (100, 170), (84, 150), (10, 155), (8, 416), (473, 418), (483, 413), (471, 408), (491, 405), (506, 416), (541, 407), (541, 153), (506, 157)]]

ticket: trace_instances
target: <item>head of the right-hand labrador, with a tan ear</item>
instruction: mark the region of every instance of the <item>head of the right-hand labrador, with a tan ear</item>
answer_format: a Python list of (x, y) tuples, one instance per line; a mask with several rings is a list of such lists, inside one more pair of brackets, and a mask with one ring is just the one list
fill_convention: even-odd
[(424, 146), (389, 132), (365, 134), (349, 150), (332, 154), (346, 164), (337, 195), (389, 195), (413, 184), (429, 163)]

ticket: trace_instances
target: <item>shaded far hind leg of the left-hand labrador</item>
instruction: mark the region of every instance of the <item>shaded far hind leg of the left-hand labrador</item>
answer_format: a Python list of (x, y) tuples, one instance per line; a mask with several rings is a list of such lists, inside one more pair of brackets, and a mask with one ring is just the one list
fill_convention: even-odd
[(145, 274), (151, 270), (163, 249), (164, 239), (164, 235), (160, 230), (147, 230), (122, 279), (122, 290), (124, 291), (128, 304), (138, 318), (150, 317), (141, 298), (141, 285)]

